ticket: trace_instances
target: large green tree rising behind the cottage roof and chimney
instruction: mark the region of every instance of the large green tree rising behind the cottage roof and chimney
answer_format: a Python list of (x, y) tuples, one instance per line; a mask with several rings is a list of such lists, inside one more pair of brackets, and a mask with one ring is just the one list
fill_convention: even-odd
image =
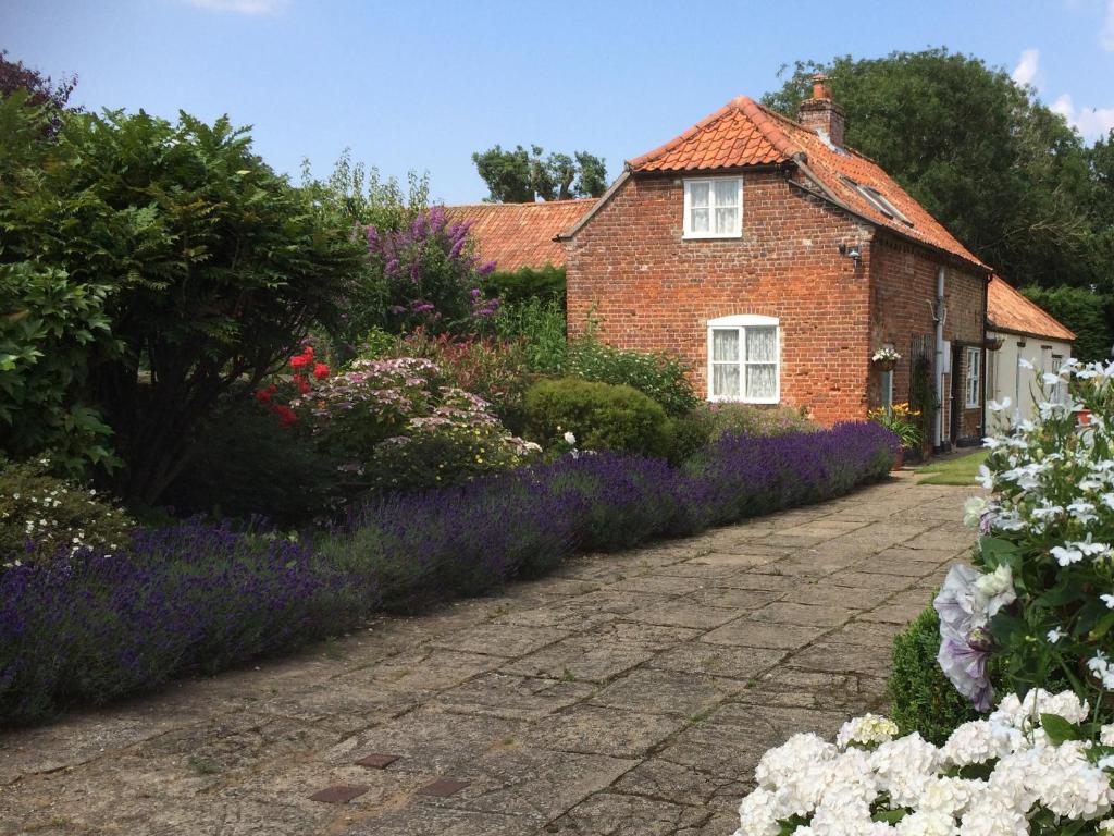
[(801, 61), (764, 101), (795, 116), (814, 72), (847, 111), (847, 144), (876, 159), (1015, 284), (1110, 283), (1096, 262), (1079, 136), (983, 60), (928, 49)]

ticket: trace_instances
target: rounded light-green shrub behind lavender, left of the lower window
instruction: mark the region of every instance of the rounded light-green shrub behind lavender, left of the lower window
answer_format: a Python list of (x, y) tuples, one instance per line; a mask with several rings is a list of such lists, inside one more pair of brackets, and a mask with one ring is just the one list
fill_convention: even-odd
[(588, 450), (664, 456), (670, 449), (668, 416), (659, 404), (629, 386), (577, 378), (543, 380), (526, 392), (526, 434), (544, 447), (576, 436)]

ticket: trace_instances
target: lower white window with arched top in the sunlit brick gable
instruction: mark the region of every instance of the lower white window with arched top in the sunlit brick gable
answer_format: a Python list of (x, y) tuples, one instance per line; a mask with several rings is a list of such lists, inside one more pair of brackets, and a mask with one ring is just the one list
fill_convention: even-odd
[(781, 328), (774, 317), (741, 314), (707, 323), (707, 399), (781, 400)]

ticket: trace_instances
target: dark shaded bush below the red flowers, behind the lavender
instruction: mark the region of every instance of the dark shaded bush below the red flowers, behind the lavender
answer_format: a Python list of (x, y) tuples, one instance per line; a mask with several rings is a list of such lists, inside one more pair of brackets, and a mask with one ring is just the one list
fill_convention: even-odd
[(282, 426), (236, 387), (199, 427), (194, 453), (163, 502), (179, 516), (262, 514), (299, 525), (332, 509), (338, 483), (336, 463), (317, 450), (305, 425)]

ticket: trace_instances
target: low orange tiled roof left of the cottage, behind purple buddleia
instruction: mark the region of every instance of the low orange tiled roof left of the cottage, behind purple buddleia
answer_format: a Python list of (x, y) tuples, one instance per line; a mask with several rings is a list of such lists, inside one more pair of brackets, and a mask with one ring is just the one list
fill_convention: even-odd
[(554, 241), (596, 203), (595, 197), (549, 203), (477, 203), (446, 206), (449, 221), (470, 223), (481, 261), (497, 270), (565, 265), (565, 245)]

